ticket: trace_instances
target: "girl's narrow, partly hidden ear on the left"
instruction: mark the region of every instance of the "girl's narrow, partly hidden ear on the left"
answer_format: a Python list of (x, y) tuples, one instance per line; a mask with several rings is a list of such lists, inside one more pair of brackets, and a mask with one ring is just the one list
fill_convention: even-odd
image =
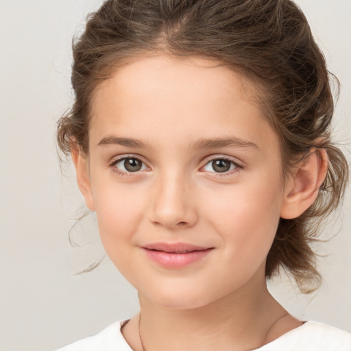
[(79, 147), (71, 147), (71, 156), (75, 165), (80, 192), (84, 196), (86, 206), (88, 206), (89, 210), (94, 211), (95, 206), (93, 192), (91, 191), (87, 156), (82, 153)]

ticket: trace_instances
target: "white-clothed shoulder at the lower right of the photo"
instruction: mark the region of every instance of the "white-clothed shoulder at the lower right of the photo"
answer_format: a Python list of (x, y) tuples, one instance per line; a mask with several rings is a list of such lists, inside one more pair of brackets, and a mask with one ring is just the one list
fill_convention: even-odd
[(267, 343), (257, 351), (351, 351), (351, 334), (327, 324), (309, 321)]

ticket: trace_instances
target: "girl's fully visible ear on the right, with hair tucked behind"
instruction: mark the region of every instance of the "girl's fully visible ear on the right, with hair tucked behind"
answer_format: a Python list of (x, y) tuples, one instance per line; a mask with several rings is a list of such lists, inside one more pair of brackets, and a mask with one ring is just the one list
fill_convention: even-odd
[(280, 217), (293, 219), (302, 215), (315, 202), (327, 171), (326, 149), (311, 149), (286, 182)]

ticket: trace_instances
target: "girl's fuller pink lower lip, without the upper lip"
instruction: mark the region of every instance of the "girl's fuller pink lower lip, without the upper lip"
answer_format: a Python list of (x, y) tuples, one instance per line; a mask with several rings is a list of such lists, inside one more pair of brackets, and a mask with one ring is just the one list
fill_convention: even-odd
[(205, 258), (213, 249), (188, 252), (186, 254), (173, 254), (171, 252), (144, 249), (143, 251), (152, 261), (166, 268), (179, 269), (191, 265)]

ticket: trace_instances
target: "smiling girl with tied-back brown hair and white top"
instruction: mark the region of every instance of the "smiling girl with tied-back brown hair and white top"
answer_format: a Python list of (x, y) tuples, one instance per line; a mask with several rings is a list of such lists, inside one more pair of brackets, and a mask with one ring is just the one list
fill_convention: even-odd
[(311, 242), (348, 179), (330, 75), (290, 0), (108, 0), (58, 124), (141, 311), (72, 350), (351, 350), (269, 294), (319, 285)]

